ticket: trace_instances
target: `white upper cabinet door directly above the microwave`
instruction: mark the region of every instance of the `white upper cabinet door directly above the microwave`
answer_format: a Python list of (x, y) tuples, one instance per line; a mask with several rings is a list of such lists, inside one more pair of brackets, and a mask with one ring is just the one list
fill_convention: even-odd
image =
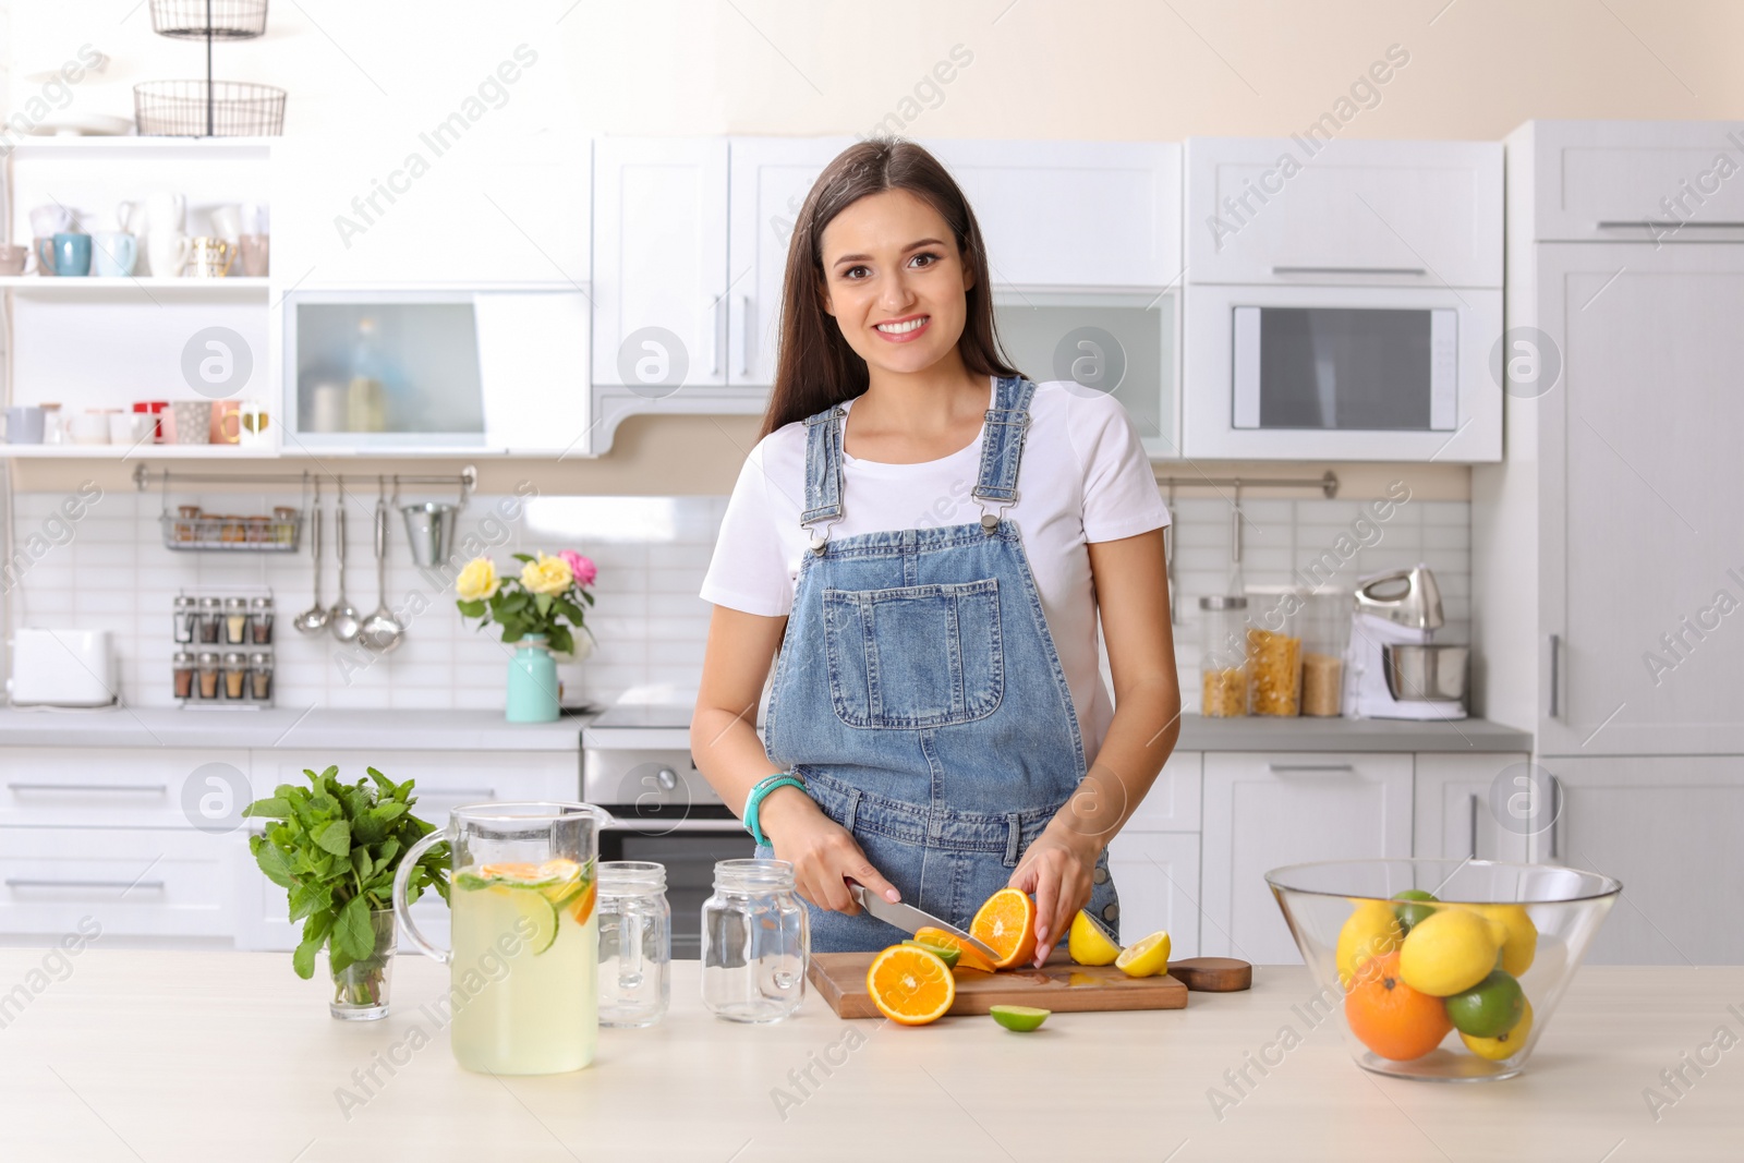
[(1502, 286), (1502, 145), (1191, 138), (1188, 282)]

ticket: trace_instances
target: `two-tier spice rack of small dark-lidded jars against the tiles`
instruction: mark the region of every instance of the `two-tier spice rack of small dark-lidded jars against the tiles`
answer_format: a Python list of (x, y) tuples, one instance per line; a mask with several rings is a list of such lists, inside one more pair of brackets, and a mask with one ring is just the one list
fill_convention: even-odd
[(272, 706), (277, 617), (270, 589), (181, 591), (173, 612), (171, 680), (183, 710)]

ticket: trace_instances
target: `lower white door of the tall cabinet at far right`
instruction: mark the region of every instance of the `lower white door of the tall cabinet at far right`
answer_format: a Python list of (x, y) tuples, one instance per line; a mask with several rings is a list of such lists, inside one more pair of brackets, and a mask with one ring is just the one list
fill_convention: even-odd
[(1547, 758), (1563, 788), (1536, 856), (1622, 881), (1587, 959), (1744, 964), (1744, 760)]

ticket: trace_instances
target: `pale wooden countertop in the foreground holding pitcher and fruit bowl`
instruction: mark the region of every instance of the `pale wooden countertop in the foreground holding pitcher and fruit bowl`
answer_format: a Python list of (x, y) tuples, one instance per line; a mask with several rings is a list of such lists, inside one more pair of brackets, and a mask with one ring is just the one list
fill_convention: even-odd
[[(602, 1030), (593, 1069), (490, 1078), (460, 1071), (420, 1011), (446, 987), (422, 957), (398, 959), (396, 1010), (371, 1024), (328, 1018), (323, 973), (300, 982), (288, 954), (98, 938), (31, 978), (44, 957), (0, 950), (0, 996), (30, 994), (0, 1015), (16, 1160), (1685, 1161), (1735, 1160), (1744, 1109), (1744, 1064), (1711, 1046), (1744, 1030), (1744, 968), (1587, 966), (1521, 1078), (1444, 1086), (1357, 1069), (1332, 1022), (1296, 1010), (1313, 989), (1294, 966), (1256, 969), (1247, 994), (1060, 1013), (1025, 1036), (841, 1022), (816, 996), (788, 1022), (731, 1025), (687, 961), (668, 1018)], [(1261, 1055), (1275, 1064), (1249, 1064)], [(1711, 1060), (1683, 1067), (1676, 1097), (1660, 1072), (1685, 1055)], [(1645, 1088), (1676, 1102), (1655, 1119)]]

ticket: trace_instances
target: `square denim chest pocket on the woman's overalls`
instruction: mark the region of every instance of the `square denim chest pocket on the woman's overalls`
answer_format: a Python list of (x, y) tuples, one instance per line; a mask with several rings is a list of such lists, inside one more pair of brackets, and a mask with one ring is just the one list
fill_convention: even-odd
[(1005, 697), (999, 579), (825, 589), (830, 703), (849, 727), (949, 727)]

